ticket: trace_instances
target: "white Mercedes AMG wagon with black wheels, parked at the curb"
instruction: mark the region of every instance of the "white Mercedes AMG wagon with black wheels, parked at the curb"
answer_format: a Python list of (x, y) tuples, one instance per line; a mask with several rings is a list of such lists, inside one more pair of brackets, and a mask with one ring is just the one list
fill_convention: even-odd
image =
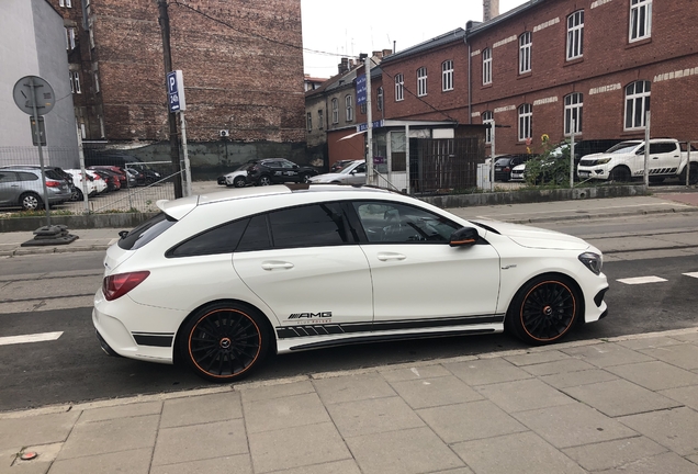
[(505, 328), (550, 343), (607, 313), (584, 240), (399, 193), (283, 184), (158, 206), (108, 249), (92, 321), (105, 352), (181, 358), (211, 381), (270, 351)]

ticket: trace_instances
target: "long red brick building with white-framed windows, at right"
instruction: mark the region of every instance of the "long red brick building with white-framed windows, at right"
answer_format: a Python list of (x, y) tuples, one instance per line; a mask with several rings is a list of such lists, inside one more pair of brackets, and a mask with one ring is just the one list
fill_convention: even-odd
[(496, 154), (570, 138), (572, 120), (576, 140), (643, 137), (648, 110), (653, 137), (698, 139), (694, 0), (533, 0), (502, 15), (484, 4), (491, 20), (383, 58), (373, 117), (494, 120)]

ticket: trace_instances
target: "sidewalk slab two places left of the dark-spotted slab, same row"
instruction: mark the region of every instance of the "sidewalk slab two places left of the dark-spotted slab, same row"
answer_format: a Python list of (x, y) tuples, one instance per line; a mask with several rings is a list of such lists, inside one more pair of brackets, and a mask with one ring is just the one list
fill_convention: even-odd
[(345, 439), (425, 426), (399, 397), (333, 404), (327, 410)]

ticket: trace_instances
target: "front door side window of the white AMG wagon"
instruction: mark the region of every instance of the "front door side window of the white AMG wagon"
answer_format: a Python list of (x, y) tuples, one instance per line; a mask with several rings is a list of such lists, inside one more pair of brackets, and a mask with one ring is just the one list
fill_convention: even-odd
[(405, 204), (354, 202), (370, 242), (449, 242), (461, 225), (438, 214)]

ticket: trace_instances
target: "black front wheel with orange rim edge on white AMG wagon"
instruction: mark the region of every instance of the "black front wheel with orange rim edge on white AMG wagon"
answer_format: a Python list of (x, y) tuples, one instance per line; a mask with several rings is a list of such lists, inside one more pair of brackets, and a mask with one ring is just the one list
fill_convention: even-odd
[(576, 285), (562, 275), (540, 275), (526, 283), (511, 301), (505, 324), (524, 342), (558, 342), (584, 311)]

